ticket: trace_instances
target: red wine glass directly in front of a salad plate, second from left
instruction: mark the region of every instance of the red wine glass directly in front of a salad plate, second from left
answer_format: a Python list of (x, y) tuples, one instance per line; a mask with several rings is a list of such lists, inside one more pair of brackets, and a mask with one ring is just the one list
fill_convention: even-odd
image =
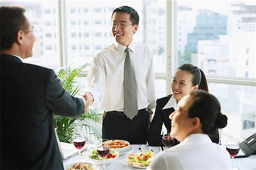
[(110, 144), (108, 139), (99, 139), (97, 145), (97, 153), (103, 158), (103, 169), (105, 170), (105, 159), (109, 155)]

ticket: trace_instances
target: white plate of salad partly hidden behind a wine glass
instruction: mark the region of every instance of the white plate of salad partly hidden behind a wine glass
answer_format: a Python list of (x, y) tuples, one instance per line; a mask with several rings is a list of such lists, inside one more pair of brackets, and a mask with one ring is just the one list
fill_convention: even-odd
[[(112, 163), (114, 160), (117, 159), (118, 156), (119, 156), (119, 152), (110, 150), (109, 155), (104, 158), (105, 164)], [(88, 157), (90, 158), (90, 160), (92, 160), (96, 164), (104, 163), (103, 157), (101, 157), (97, 154), (96, 148), (94, 148), (94, 150), (92, 151), (91, 154), (88, 155)]]

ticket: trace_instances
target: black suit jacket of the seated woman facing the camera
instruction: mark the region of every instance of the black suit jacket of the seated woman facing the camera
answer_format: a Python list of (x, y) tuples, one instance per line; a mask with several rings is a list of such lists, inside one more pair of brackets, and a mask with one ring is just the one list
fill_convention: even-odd
[[(166, 106), (171, 96), (172, 94), (156, 100), (155, 115), (150, 124), (150, 128), (148, 129), (148, 145), (150, 146), (163, 146), (161, 135), (163, 123), (164, 126), (166, 126), (167, 131), (171, 132), (171, 120), (169, 119), (169, 115), (175, 111), (174, 107), (163, 110), (163, 107)], [(212, 142), (218, 143), (218, 131), (216, 131), (216, 134), (213, 136), (210, 136), (210, 139), (212, 139)], [(178, 143), (179, 142), (175, 140), (175, 143), (172, 146), (175, 146)]]

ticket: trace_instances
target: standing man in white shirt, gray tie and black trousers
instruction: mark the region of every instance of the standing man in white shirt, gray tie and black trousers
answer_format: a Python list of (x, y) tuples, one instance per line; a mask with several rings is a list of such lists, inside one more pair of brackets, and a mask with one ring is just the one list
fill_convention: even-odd
[[(102, 138), (146, 144), (149, 114), (155, 108), (155, 73), (150, 47), (133, 41), (138, 27), (139, 15), (133, 8), (121, 6), (113, 11), (115, 43), (102, 48), (93, 57), (84, 96), (87, 107), (90, 103), (97, 105), (101, 99), (100, 106), (105, 111)], [(125, 71), (127, 56), (131, 60), (129, 65), (134, 67), (129, 71)], [(130, 75), (131, 72), (135, 74)], [(134, 80), (127, 80), (127, 77)], [(125, 81), (132, 84), (126, 85)], [(131, 88), (133, 85), (135, 89)], [(127, 99), (128, 96), (131, 98)]]

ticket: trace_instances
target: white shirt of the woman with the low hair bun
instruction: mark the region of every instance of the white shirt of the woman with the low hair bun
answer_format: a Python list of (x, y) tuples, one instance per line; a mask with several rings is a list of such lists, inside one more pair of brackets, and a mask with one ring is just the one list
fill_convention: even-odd
[(206, 134), (191, 134), (180, 144), (160, 152), (150, 169), (229, 169), (230, 155), (224, 146), (212, 143)]

